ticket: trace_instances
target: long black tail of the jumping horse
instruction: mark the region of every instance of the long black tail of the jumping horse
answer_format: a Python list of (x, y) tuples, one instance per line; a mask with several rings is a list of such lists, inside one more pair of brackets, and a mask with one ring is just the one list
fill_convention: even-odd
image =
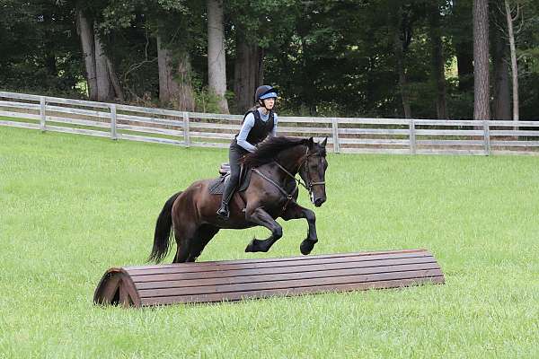
[(170, 197), (163, 206), (161, 214), (157, 217), (155, 223), (154, 248), (148, 258), (148, 262), (155, 261), (159, 263), (166, 257), (170, 249), (170, 241), (172, 239), (172, 205), (181, 192), (178, 192)]

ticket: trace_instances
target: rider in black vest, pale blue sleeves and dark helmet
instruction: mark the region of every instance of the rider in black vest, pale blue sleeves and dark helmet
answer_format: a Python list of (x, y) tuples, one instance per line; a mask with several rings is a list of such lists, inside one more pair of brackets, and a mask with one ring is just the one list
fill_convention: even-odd
[(243, 117), (243, 125), (240, 133), (234, 136), (230, 144), (228, 159), (230, 162), (230, 179), (223, 191), (221, 207), (217, 210), (217, 215), (228, 218), (228, 202), (234, 195), (234, 190), (239, 185), (240, 179), (240, 159), (246, 153), (252, 153), (256, 145), (260, 144), (266, 136), (277, 135), (277, 114), (273, 112), (275, 101), (277, 100), (277, 90), (269, 85), (262, 85), (254, 93), (255, 106)]

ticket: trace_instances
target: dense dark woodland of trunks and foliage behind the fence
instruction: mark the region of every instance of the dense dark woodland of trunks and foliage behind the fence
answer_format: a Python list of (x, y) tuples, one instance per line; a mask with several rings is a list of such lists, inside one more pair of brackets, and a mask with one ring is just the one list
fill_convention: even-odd
[(0, 90), (243, 113), (539, 119), (538, 0), (0, 0)]

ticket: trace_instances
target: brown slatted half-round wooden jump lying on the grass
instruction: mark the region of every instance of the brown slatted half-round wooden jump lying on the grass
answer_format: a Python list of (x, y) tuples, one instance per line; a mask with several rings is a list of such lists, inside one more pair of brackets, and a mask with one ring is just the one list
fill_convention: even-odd
[(144, 307), (444, 283), (427, 250), (113, 267), (93, 302)]

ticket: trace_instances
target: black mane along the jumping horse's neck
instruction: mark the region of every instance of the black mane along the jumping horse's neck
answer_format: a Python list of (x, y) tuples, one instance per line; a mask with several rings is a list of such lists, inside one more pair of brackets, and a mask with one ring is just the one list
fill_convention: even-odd
[(299, 144), (309, 144), (309, 140), (305, 138), (291, 138), (285, 136), (269, 136), (253, 153), (247, 153), (243, 157), (242, 163), (247, 168), (259, 167), (262, 164), (275, 160), (278, 153), (295, 147)]

